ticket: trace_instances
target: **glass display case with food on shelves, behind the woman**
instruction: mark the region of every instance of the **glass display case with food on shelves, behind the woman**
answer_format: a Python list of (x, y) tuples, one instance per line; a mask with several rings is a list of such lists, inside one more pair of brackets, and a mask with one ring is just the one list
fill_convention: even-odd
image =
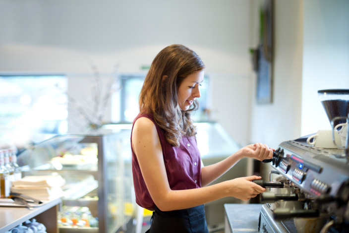
[(23, 175), (65, 179), (60, 233), (116, 233), (126, 230), (134, 216), (130, 129), (55, 136), (22, 152), (18, 164)]

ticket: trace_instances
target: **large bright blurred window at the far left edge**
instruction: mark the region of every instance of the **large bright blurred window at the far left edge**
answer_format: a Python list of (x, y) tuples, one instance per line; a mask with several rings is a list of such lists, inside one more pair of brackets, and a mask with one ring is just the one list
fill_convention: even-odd
[(0, 75), (0, 142), (27, 144), (67, 132), (64, 75)]

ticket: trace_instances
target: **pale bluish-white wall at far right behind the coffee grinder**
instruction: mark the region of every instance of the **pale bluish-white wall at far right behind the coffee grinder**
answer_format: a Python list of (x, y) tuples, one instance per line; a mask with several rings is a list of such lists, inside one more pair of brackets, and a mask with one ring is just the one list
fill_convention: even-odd
[(302, 134), (330, 129), (318, 90), (349, 89), (349, 1), (304, 1)]

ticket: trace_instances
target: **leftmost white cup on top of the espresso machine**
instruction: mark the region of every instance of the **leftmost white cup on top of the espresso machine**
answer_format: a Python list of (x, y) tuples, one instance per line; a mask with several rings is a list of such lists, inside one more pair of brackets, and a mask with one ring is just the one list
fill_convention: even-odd
[(342, 145), (338, 131), (333, 130), (318, 130), (316, 134), (308, 137), (306, 142), (318, 148), (340, 148)]

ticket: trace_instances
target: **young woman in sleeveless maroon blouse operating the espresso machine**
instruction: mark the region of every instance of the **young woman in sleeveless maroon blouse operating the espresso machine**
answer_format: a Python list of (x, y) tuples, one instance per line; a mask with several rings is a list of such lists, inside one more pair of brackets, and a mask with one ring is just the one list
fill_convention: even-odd
[(205, 65), (183, 45), (163, 49), (153, 60), (139, 97), (131, 133), (132, 172), (138, 205), (155, 210), (148, 233), (208, 233), (203, 204), (227, 196), (249, 200), (265, 188), (240, 177), (207, 186), (243, 157), (270, 159), (256, 143), (204, 167), (190, 118), (198, 107)]

